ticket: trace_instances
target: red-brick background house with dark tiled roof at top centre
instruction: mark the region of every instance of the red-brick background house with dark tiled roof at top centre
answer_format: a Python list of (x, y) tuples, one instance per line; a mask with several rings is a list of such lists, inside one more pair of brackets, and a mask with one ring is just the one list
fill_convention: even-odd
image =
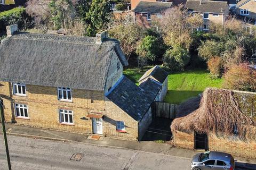
[(171, 2), (140, 1), (133, 10), (135, 22), (142, 27), (150, 28), (152, 21), (162, 18), (165, 10), (172, 7)]

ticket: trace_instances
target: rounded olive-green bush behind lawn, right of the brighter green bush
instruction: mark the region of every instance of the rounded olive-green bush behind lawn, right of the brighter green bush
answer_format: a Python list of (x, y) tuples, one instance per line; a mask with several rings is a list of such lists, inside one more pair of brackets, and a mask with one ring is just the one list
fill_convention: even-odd
[(189, 53), (181, 46), (174, 46), (164, 54), (164, 67), (171, 71), (181, 71), (188, 64), (190, 59)]

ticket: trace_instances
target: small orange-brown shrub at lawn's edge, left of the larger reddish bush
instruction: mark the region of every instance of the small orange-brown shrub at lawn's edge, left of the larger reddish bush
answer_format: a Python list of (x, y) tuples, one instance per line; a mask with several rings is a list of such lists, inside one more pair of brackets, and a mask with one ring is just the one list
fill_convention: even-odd
[(216, 79), (221, 77), (223, 71), (223, 64), (220, 57), (212, 57), (207, 62), (208, 69), (210, 70), (211, 77)]

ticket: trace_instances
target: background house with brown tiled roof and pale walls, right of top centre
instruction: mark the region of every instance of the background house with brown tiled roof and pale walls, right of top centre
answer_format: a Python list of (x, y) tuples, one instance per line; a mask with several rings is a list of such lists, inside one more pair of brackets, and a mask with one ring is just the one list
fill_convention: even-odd
[(185, 7), (189, 13), (202, 15), (202, 30), (209, 31), (211, 23), (223, 24), (229, 15), (227, 2), (188, 0)]

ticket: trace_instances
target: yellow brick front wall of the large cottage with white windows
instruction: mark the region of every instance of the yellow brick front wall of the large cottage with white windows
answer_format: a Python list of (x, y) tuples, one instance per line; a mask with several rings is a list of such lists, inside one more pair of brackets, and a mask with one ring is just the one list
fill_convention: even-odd
[[(57, 87), (26, 85), (26, 97), (12, 95), (12, 83), (0, 82), (6, 122), (75, 133), (92, 133), (90, 112), (103, 113), (103, 135), (137, 140), (138, 122), (104, 96), (104, 91), (72, 90), (72, 102), (58, 100)], [(105, 101), (106, 100), (106, 101)], [(14, 103), (28, 105), (29, 119), (15, 117)], [(60, 124), (59, 109), (73, 111), (74, 125)], [(116, 131), (116, 122), (124, 121), (126, 133)]]

